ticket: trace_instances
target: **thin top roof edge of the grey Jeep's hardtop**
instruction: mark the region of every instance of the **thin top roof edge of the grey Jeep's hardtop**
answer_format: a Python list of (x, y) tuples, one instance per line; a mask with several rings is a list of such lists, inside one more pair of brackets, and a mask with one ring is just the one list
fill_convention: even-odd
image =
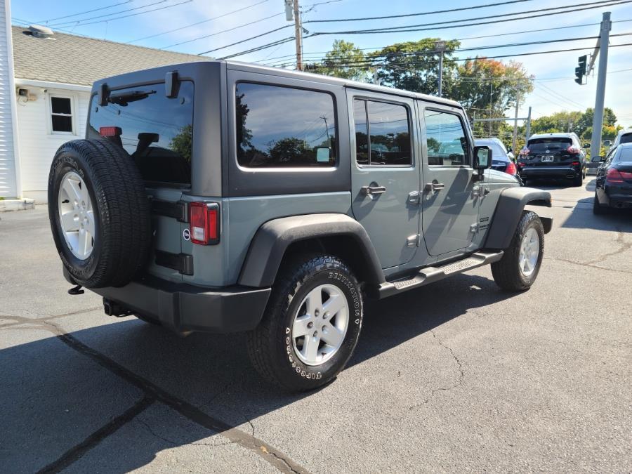
[(230, 60), (216, 60), (216, 61), (199, 61), (199, 62), (183, 62), (181, 64), (174, 64), (169, 66), (154, 67), (148, 70), (138, 70), (136, 72), (129, 72), (127, 74), (120, 74), (118, 76), (105, 77), (96, 81), (93, 84), (93, 91), (99, 84), (110, 84), (114, 82), (116, 88), (120, 88), (121, 84), (129, 84), (130, 86), (136, 86), (143, 79), (138, 76), (148, 77), (152, 74), (164, 75), (165, 72), (173, 69), (187, 68), (187, 67), (200, 67), (200, 68), (212, 68), (218, 65), (224, 65), (228, 70), (239, 70), (245, 72), (254, 72), (256, 74), (270, 74), (277, 77), (288, 77), (293, 79), (313, 79), (314, 81), (322, 84), (334, 84), (338, 86), (353, 87), (358, 89), (364, 89), (366, 91), (375, 91), (388, 94), (396, 94), (397, 96), (404, 96), (409, 98), (418, 98), (442, 105), (448, 105), (449, 107), (457, 107), (462, 109), (461, 104), (454, 100), (445, 98), (428, 96), (427, 94), (403, 91), (402, 89), (390, 88), (386, 86), (378, 86), (376, 84), (368, 84), (366, 82), (350, 81), (348, 79), (339, 79), (338, 77), (324, 76), (321, 74), (312, 74), (311, 72), (293, 71), (282, 69), (281, 67), (268, 67), (252, 64), (250, 62), (230, 61)]

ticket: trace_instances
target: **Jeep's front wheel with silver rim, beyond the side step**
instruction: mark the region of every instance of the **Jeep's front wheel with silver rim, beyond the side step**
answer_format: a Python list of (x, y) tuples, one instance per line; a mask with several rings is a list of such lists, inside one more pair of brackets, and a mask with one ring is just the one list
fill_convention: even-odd
[(492, 263), (494, 282), (507, 291), (525, 291), (535, 282), (544, 256), (544, 228), (538, 215), (522, 213), (511, 244)]

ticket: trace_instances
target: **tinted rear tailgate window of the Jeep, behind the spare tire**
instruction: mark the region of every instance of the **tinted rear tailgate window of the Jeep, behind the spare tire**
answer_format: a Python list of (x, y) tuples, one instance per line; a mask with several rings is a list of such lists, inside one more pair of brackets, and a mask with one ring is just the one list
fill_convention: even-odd
[(164, 95), (164, 84), (112, 91), (113, 98), (139, 91), (138, 98), (98, 105), (93, 96), (88, 138), (100, 136), (101, 127), (121, 129), (110, 138), (131, 154), (146, 181), (190, 185), (193, 143), (193, 83), (182, 81), (177, 98)]

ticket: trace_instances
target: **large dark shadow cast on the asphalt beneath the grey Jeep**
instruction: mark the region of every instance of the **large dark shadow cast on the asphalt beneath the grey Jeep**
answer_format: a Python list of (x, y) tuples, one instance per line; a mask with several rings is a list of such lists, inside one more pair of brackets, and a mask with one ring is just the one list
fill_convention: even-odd
[[(457, 275), (367, 302), (360, 343), (348, 367), (367, 363), (468, 310), (511, 296), (491, 279)], [(16, 331), (19, 327), (11, 329), (22, 334)], [(310, 397), (340, 396), (335, 384), (324, 389), (327, 393), (301, 394), (269, 386), (252, 369), (243, 334), (181, 338), (138, 320), (44, 336), (0, 350), (0, 374), (1, 464), (24, 472), (45, 466), (127, 472), (146, 466), (166, 449), (227, 446), (226, 438), (252, 451), (261, 441), (253, 437), (249, 421)], [(107, 428), (143, 397), (153, 403), (116, 429)]]

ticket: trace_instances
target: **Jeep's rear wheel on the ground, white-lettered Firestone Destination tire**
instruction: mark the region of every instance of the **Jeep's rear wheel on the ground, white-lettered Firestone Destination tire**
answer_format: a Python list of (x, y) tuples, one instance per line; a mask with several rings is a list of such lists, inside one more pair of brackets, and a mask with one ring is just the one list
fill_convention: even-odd
[(247, 336), (252, 364), (284, 390), (323, 386), (353, 354), (362, 317), (360, 284), (337, 257), (290, 261), (279, 270), (261, 323)]

